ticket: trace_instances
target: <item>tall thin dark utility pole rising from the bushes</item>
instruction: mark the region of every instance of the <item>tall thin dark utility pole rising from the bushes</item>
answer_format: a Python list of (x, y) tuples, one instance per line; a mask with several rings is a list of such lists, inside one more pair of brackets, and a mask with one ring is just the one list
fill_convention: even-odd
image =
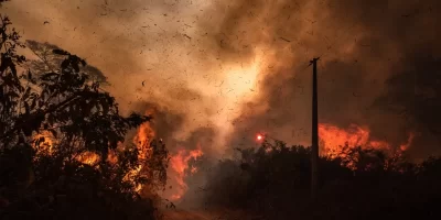
[(318, 61), (310, 62), (312, 65), (312, 141), (311, 141), (311, 199), (315, 200), (318, 195), (319, 179), (319, 110), (318, 110)]

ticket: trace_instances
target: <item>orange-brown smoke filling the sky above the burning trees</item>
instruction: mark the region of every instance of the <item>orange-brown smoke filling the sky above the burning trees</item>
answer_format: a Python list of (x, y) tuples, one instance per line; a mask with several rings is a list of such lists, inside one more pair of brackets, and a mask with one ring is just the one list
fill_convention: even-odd
[(420, 54), (440, 57), (440, 4), (14, 0), (1, 10), (25, 38), (56, 44), (101, 69), (125, 112), (153, 108), (157, 134), (172, 150), (200, 144), (219, 157), (252, 144), (257, 132), (309, 144), (308, 64), (321, 56), (320, 122), (366, 125), (373, 139), (392, 144), (419, 132), (413, 145), (423, 146), (409, 152), (422, 157), (435, 142), (423, 123), (374, 103), (387, 94), (387, 79), (419, 72)]

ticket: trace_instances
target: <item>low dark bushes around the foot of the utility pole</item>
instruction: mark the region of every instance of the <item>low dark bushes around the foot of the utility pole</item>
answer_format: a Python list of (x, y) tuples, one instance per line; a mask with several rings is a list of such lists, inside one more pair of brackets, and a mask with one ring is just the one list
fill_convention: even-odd
[[(208, 174), (204, 202), (263, 219), (437, 219), (441, 158), (408, 163), (401, 153), (341, 146), (320, 158), (320, 194), (310, 200), (310, 148), (282, 142), (238, 150)], [(222, 194), (219, 194), (222, 191)]]

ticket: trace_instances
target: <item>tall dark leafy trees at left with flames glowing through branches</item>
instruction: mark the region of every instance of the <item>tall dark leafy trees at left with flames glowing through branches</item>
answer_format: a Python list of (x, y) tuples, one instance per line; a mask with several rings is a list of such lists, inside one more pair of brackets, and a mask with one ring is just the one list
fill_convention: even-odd
[[(151, 117), (121, 116), (97, 68), (22, 43), (11, 24), (1, 16), (0, 219), (154, 219), (143, 195), (164, 187), (168, 151), (125, 142)], [(25, 47), (39, 59), (18, 53)]]

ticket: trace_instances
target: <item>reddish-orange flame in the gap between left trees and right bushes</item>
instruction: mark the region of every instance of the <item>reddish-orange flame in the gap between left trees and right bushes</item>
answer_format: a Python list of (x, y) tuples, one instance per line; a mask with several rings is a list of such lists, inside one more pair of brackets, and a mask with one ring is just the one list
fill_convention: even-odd
[(201, 151), (201, 147), (198, 147), (193, 151), (180, 150), (176, 154), (172, 155), (170, 160), (172, 169), (171, 176), (173, 178), (172, 180), (178, 184), (178, 187), (173, 188), (173, 194), (170, 196), (170, 200), (176, 201), (186, 193), (189, 187), (184, 182), (186, 176), (185, 172), (189, 170), (189, 168), (192, 174), (197, 172), (196, 167), (189, 167), (189, 161), (192, 158), (196, 160), (203, 154), (204, 153)]

